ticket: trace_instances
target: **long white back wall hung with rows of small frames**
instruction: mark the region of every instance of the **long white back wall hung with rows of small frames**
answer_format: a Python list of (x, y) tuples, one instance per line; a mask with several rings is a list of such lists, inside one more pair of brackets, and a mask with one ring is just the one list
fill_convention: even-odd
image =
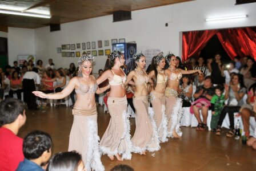
[[(165, 53), (171, 51), (181, 56), (182, 31), (256, 26), (256, 3), (234, 4), (235, 0), (197, 0), (132, 11), (130, 21), (113, 23), (112, 15), (107, 15), (62, 24), (61, 31), (50, 32), (49, 27), (37, 28), (34, 30), (33, 42), (35, 54), (44, 64), (47, 59), (53, 58), (56, 67), (69, 67), (71, 62), (77, 64), (77, 58), (62, 58), (61, 54), (57, 54), (56, 48), (61, 47), (61, 44), (125, 38), (126, 42), (136, 41), (138, 51), (160, 48)], [(239, 14), (247, 14), (249, 17), (205, 22), (205, 18)], [(165, 27), (167, 22), (169, 26)], [(111, 49), (101, 49), (108, 48)], [(94, 72), (103, 68), (105, 60), (106, 56), (97, 56)]]

